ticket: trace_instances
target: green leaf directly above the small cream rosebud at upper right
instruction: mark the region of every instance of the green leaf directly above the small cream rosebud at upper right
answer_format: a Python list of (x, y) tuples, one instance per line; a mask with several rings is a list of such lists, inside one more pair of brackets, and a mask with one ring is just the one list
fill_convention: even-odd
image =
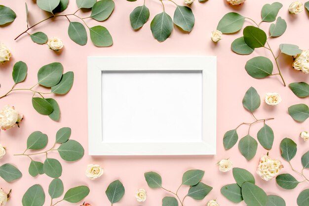
[(230, 12), (224, 15), (219, 21), (217, 30), (221, 31), (223, 34), (238, 32), (242, 28), (244, 22), (244, 16), (235, 12)]

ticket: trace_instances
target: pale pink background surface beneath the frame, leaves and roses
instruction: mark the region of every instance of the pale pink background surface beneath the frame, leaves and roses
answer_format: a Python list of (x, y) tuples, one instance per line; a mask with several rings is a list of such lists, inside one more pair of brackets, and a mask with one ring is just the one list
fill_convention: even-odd
[[(308, 41), (308, 24), (309, 17), (306, 11), (298, 15), (290, 15), (288, 6), (291, 0), (280, 0), (283, 8), (278, 16), (287, 21), (288, 29), (286, 33), (277, 39), (271, 39), (270, 45), (278, 52), (280, 43), (293, 43), (300, 45), (303, 49), (309, 48)], [(181, 0), (177, 0), (182, 4)], [(0, 107), (5, 104), (15, 106), (15, 108), (23, 113), (24, 121), (21, 128), (13, 128), (8, 131), (1, 131), (0, 143), (7, 147), (7, 155), (0, 160), (0, 165), (4, 163), (12, 163), (22, 171), (23, 177), (13, 183), (6, 183), (0, 179), (0, 186), (8, 191), (12, 189), (11, 200), (8, 206), (20, 206), (21, 199), (25, 191), (32, 185), (39, 183), (46, 193), (45, 206), (49, 205), (50, 198), (48, 196), (48, 184), (52, 178), (46, 175), (39, 175), (33, 178), (28, 173), (30, 160), (27, 157), (13, 156), (13, 154), (22, 153), (26, 147), (28, 135), (40, 130), (49, 136), (49, 144), (46, 148), (51, 147), (54, 142), (56, 131), (63, 127), (72, 128), (72, 139), (81, 142), (85, 148), (85, 156), (82, 160), (75, 163), (67, 163), (60, 160), (57, 152), (51, 152), (49, 157), (56, 157), (63, 166), (63, 174), (61, 179), (65, 185), (65, 191), (77, 185), (87, 185), (90, 187), (90, 194), (85, 199), (92, 206), (108, 206), (110, 205), (105, 190), (110, 182), (120, 179), (125, 186), (125, 196), (121, 202), (115, 204), (119, 206), (159, 206), (161, 199), (170, 194), (163, 190), (150, 189), (144, 179), (144, 172), (154, 170), (161, 174), (163, 178), (163, 187), (176, 191), (181, 183), (181, 177), (184, 171), (192, 168), (205, 170), (205, 176), (202, 181), (214, 187), (212, 192), (200, 202), (187, 198), (185, 205), (187, 206), (204, 206), (209, 200), (217, 199), (222, 206), (233, 205), (224, 198), (220, 189), (223, 185), (234, 183), (232, 171), (228, 173), (219, 172), (216, 163), (224, 158), (230, 158), (234, 163), (234, 167), (242, 167), (252, 172), (256, 178), (258, 186), (262, 187), (267, 194), (275, 194), (283, 197), (287, 205), (296, 205), (298, 194), (305, 188), (309, 188), (308, 182), (300, 184), (296, 189), (287, 191), (279, 188), (275, 180), (269, 182), (262, 181), (256, 174), (256, 167), (259, 158), (267, 153), (260, 145), (257, 155), (250, 162), (246, 161), (238, 151), (237, 145), (229, 151), (225, 151), (222, 144), (222, 138), (226, 131), (235, 128), (242, 122), (251, 122), (253, 119), (250, 114), (245, 111), (241, 104), (245, 91), (254, 86), (262, 96), (261, 107), (255, 112), (258, 118), (274, 117), (275, 120), (269, 121), (269, 124), (275, 133), (275, 142), (273, 149), (270, 151), (270, 157), (280, 159), (284, 165), (281, 173), (291, 173), (297, 179), (302, 178), (293, 172), (286, 161), (280, 156), (279, 143), (284, 137), (290, 137), (298, 144), (298, 153), (292, 164), (297, 170), (301, 170), (300, 157), (308, 151), (309, 142), (304, 142), (299, 133), (303, 130), (309, 130), (309, 120), (299, 124), (296, 123), (287, 113), (287, 108), (293, 104), (306, 103), (307, 99), (296, 97), (288, 87), (284, 87), (280, 79), (276, 76), (264, 80), (256, 80), (251, 78), (244, 70), (246, 61), (254, 56), (271, 54), (266, 49), (256, 49), (250, 56), (240, 56), (233, 53), (230, 49), (231, 42), (241, 33), (236, 35), (225, 35), (223, 40), (217, 44), (210, 40), (210, 32), (213, 31), (219, 20), (224, 14), (230, 11), (240, 12), (244, 16), (255, 19), (260, 22), (260, 11), (265, 3), (272, 3), (272, 0), (247, 0), (241, 6), (230, 6), (225, 0), (209, 0), (205, 3), (199, 3), (197, 0), (193, 3), (192, 8), (196, 18), (193, 31), (188, 34), (182, 34), (178, 29), (174, 29), (171, 37), (163, 42), (158, 43), (152, 37), (150, 30), (150, 22), (138, 32), (134, 32), (130, 27), (129, 14), (138, 5), (142, 4), (142, 0), (137, 2), (128, 2), (125, 0), (117, 0), (115, 11), (111, 18), (106, 22), (100, 23), (91, 19), (86, 19), (90, 26), (104, 25), (111, 32), (114, 45), (108, 48), (95, 47), (90, 38), (85, 46), (79, 46), (71, 41), (67, 35), (68, 21), (59, 17), (55, 20), (49, 20), (42, 23), (31, 33), (42, 31), (49, 37), (58, 37), (64, 41), (65, 47), (61, 53), (48, 49), (47, 45), (39, 45), (33, 43), (30, 37), (22, 36), (17, 41), (14, 38), (23, 32), (26, 28), (25, 6), (24, 1), (6, 0), (1, 2), (11, 7), (18, 15), (18, 18), (9, 26), (0, 28), (0, 41), (3, 41), (11, 49), (13, 57), (9, 63), (0, 65), (0, 93), (4, 94), (12, 86), (11, 78), (12, 67), (17, 61), (24, 61), (28, 65), (28, 77), (25, 82), (20, 83), (17, 88), (31, 87), (37, 81), (38, 69), (51, 62), (61, 62), (65, 72), (74, 71), (75, 83), (71, 91), (65, 96), (55, 96), (61, 109), (61, 120), (53, 122), (48, 117), (39, 115), (31, 104), (31, 92), (14, 92), (1, 99)], [(48, 14), (41, 11), (32, 0), (27, 0), (30, 25), (45, 18)], [(150, 8), (152, 19), (156, 13), (161, 12), (162, 8), (158, 0), (147, 0), (147, 6)], [(173, 14), (174, 5), (170, 2), (165, 3), (168, 13)], [(64, 13), (72, 13), (77, 9), (74, 0), (70, 1), (69, 8)], [(80, 12), (80, 11), (79, 11)], [(80, 12), (82, 13), (82, 12)], [(86, 16), (87, 14), (85, 14)], [(75, 18), (71, 17), (72, 21)], [(77, 19), (76, 19), (77, 20)], [(245, 25), (251, 25), (246, 21)], [(268, 30), (270, 24), (262, 23), (262, 27)], [(216, 55), (218, 57), (218, 121), (217, 121), (217, 155), (202, 157), (90, 157), (87, 155), (87, 81), (86, 67), (87, 56), (114, 56), (114, 55)], [(282, 55), (279, 58), (282, 74), (287, 83), (291, 82), (308, 82), (309, 76), (292, 69), (292, 58)], [(137, 62), (138, 64), (138, 62)], [(276, 68), (274, 67), (274, 72)], [(38, 88), (42, 90), (42, 88)], [(264, 95), (267, 92), (278, 92), (282, 96), (282, 102), (275, 107), (266, 105)], [(53, 97), (53, 95), (51, 95)], [(209, 97), (212, 101), (212, 97)], [(251, 134), (256, 137), (257, 131), (262, 127), (262, 123), (254, 125)], [(239, 137), (246, 135), (247, 127), (243, 126), (239, 129)], [(44, 160), (44, 155), (35, 157), (35, 160)], [(105, 169), (104, 175), (94, 181), (89, 180), (85, 176), (86, 165), (100, 164)], [(306, 171), (309, 175), (309, 172)], [(147, 201), (145, 203), (137, 203), (134, 194), (140, 189), (147, 190)], [(181, 196), (185, 195), (188, 188), (183, 187), (180, 190)], [(73, 205), (70, 203), (60, 203), (59, 206)], [(80, 204), (76, 204), (80, 205)], [(238, 204), (244, 206), (242, 202)]]

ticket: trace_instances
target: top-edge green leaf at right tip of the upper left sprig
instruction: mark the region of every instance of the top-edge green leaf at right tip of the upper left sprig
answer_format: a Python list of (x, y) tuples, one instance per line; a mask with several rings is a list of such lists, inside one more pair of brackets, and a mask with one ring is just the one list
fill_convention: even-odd
[(99, 0), (93, 5), (90, 17), (97, 21), (105, 21), (110, 17), (114, 8), (113, 0)]

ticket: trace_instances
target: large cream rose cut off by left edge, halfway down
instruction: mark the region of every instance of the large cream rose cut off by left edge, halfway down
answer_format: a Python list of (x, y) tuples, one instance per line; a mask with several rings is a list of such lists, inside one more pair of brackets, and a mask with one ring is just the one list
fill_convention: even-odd
[(5, 105), (0, 111), (0, 128), (3, 130), (10, 129), (23, 120), (23, 115), (18, 114), (14, 107)]

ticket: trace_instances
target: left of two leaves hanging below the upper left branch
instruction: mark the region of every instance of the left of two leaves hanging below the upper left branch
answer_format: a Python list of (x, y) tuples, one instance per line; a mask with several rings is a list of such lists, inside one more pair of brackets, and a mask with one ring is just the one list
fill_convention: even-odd
[(87, 32), (85, 27), (79, 22), (70, 22), (68, 29), (69, 37), (72, 41), (83, 46), (87, 43)]

